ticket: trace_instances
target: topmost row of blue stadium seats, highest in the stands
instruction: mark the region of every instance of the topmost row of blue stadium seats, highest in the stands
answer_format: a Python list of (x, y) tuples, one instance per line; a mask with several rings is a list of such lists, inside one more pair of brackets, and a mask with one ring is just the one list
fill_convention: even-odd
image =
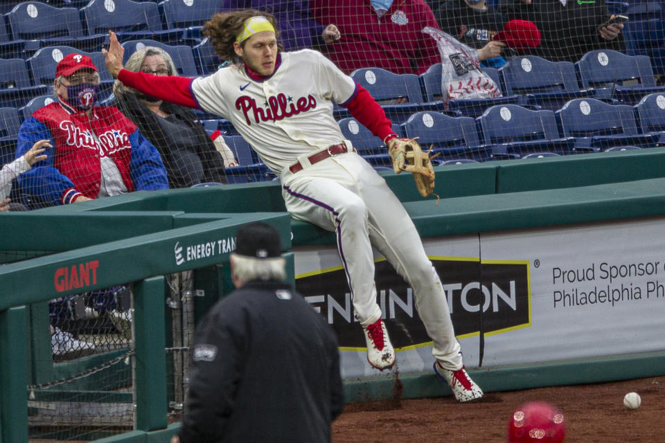
[[(605, 3), (610, 13), (630, 17), (623, 30), (627, 53), (651, 57), (655, 72), (665, 74), (663, 2)], [(56, 45), (99, 51), (107, 43), (108, 29), (116, 30), (121, 42), (150, 38), (196, 46), (201, 42), (200, 28), (212, 12), (231, 6), (223, 0), (23, 2), (0, 17), (0, 58), (27, 58), (38, 48)]]

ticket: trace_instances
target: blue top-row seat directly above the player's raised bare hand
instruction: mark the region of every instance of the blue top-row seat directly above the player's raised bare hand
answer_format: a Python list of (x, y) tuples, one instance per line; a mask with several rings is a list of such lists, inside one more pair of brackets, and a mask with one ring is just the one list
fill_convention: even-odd
[(91, 0), (81, 8), (89, 35), (118, 35), (120, 42), (154, 39), (159, 42), (177, 42), (181, 30), (163, 30), (157, 3), (132, 0)]

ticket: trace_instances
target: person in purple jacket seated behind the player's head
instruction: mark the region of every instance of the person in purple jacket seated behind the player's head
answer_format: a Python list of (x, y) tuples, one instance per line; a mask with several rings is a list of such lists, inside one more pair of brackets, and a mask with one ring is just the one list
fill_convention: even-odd
[[(220, 10), (256, 9), (270, 12), (279, 24), (284, 51), (317, 49), (339, 40), (334, 24), (319, 24), (310, 15), (309, 0), (222, 0)], [(332, 22), (334, 23), (334, 22)]]

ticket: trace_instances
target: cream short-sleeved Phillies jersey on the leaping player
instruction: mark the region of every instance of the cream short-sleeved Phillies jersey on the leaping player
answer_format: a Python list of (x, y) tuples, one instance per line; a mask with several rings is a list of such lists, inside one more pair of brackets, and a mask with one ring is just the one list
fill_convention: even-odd
[(244, 65), (231, 66), (195, 79), (191, 89), (201, 109), (229, 120), (281, 175), (299, 155), (344, 140), (331, 100), (346, 102), (356, 84), (317, 51), (281, 53), (277, 60), (265, 80), (249, 77)]

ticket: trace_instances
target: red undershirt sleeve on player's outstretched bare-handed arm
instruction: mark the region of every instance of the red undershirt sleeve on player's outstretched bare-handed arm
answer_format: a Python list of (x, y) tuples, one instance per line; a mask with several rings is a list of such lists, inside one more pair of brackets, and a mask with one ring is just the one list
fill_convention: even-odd
[(123, 69), (118, 80), (126, 87), (134, 88), (148, 96), (190, 108), (199, 108), (191, 90), (193, 78), (177, 75), (150, 75)]

